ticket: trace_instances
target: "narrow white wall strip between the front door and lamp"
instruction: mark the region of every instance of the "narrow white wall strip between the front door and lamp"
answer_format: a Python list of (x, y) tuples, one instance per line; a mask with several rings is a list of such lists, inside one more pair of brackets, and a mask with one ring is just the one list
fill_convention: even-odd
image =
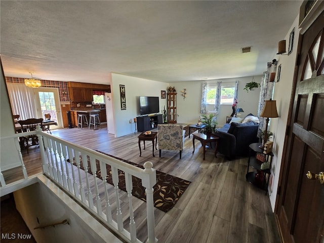
[[(295, 36), (293, 43), (293, 52), (290, 55), (276, 55), (274, 58), (277, 59), (277, 68), (281, 64), (281, 72), (280, 79), (278, 83), (274, 85), (274, 94), (273, 99), (276, 100), (277, 111), (279, 118), (270, 119), (270, 127), (269, 130), (274, 132), (273, 136), (273, 162), (272, 162), (272, 186), (270, 187), (270, 201), (272, 210), (274, 210), (275, 200), (276, 200), (276, 191), (278, 188), (278, 180), (279, 180), (279, 172), (280, 165), (282, 163), (282, 154), (285, 153), (282, 149), (284, 148), (284, 142), (286, 137), (286, 127), (289, 113), (289, 105), (290, 98), (292, 93), (292, 85), (293, 85), (293, 76), (295, 69), (295, 60), (297, 55), (297, 45), (298, 45), (298, 37), (299, 37), (299, 29), (298, 29), (298, 19), (299, 15), (296, 17), (293, 25), (288, 30), (287, 35), (282, 40), (287, 40), (286, 50), (288, 52), (288, 43), (289, 43), (289, 35), (293, 28), (295, 28)], [(275, 77), (277, 80), (277, 77)]]

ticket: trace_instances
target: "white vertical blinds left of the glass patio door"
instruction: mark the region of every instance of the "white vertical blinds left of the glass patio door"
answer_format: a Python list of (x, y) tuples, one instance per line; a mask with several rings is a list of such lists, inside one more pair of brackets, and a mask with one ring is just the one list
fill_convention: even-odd
[(7, 83), (13, 115), (20, 115), (20, 120), (36, 118), (35, 96), (32, 88), (24, 84)]

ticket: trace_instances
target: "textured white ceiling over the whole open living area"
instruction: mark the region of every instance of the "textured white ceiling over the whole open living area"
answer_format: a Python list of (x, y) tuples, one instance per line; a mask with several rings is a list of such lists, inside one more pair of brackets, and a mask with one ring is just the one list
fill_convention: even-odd
[(301, 3), (2, 0), (1, 58), (5, 76), (56, 81), (261, 75)]

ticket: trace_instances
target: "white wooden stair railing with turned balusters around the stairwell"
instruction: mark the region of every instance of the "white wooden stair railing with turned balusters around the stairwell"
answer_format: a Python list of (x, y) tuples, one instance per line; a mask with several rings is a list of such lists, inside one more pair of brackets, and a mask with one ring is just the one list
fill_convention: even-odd
[[(151, 162), (146, 162), (144, 169), (141, 169), (97, 151), (62, 140), (52, 134), (43, 132), (40, 127), (37, 127), (36, 131), (29, 133), (38, 136), (43, 173), (95, 214), (110, 229), (129, 242), (141, 242), (136, 236), (136, 218), (134, 218), (133, 196), (131, 194), (133, 189), (132, 177), (141, 179), (143, 187), (146, 188), (146, 242), (157, 242), (153, 206), (153, 186), (156, 183), (156, 172), (152, 168)], [(18, 145), (17, 152), (21, 156), (18, 143), (18, 137), (21, 135), (20, 133), (2, 138), (1, 142), (6, 139), (15, 140)], [(24, 133), (24, 135), (27, 135), (27, 133)], [(73, 162), (75, 165), (73, 165)], [(24, 171), (24, 180), (27, 180), (28, 176), (22, 156), (21, 165)], [(113, 185), (105, 181), (107, 165), (111, 167)], [(90, 170), (92, 175), (89, 173)], [(121, 191), (118, 187), (118, 170), (125, 173), (126, 192)], [(99, 173), (101, 173), (103, 180), (98, 178)], [(0, 180), (2, 190), (9, 186), (6, 185), (1, 168)], [(123, 194), (127, 196), (127, 200), (123, 201), (124, 204), (128, 204), (127, 211), (121, 209), (120, 202)], [(124, 227), (126, 223), (129, 223), (129, 231)]]

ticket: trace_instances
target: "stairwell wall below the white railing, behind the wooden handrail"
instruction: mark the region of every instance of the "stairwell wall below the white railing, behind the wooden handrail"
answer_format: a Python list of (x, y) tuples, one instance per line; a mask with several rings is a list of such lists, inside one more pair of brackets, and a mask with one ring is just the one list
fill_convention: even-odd
[[(54, 183), (40, 178), (39, 183), (14, 192), (17, 210), (36, 242), (120, 242)], [(65, 219), (69, 224), (34, 229)]]

